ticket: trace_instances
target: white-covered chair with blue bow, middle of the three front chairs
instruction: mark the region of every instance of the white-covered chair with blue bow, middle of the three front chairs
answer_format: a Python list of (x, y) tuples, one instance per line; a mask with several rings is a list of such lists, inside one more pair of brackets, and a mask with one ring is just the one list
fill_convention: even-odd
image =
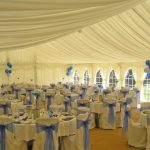
[(33, 150), (58, 150), (58, 118), (36, 120), (37, 134)]

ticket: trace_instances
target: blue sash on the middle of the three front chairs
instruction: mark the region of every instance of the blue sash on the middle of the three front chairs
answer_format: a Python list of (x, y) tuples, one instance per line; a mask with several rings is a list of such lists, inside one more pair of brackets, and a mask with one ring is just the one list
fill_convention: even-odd
[(58, 125), (37, 125), (37, 132), (42, 131), (46, 133), (44, 150), (54, 150), (53, 131), (58, 131)]

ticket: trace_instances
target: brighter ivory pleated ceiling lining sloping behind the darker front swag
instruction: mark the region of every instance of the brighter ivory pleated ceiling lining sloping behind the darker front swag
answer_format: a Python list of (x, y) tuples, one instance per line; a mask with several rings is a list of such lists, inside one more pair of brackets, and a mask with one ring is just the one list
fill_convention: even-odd
[(39, 63), (118, 63), (150, 58), (150, 1), (52, 42), (31, 47)]

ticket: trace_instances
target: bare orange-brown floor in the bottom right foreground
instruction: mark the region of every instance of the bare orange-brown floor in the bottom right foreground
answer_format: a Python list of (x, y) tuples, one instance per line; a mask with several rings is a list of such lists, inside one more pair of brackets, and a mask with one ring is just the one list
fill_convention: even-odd
[[(139, 112), (132, 110), (132, 118), (137, 121)], [(90, 130), (91, 150), (145, 150), (128, 146), (127, 135), (122, 135), (121, 128), (116, 130)]]

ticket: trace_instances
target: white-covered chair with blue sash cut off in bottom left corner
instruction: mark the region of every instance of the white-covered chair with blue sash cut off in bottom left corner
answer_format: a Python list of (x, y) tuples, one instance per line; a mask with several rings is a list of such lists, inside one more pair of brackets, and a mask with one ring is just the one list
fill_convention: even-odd
[(0, 150), (27, 150), (25, 141), (17, 141), (13, 134), (12, 119), (0, 116)]

